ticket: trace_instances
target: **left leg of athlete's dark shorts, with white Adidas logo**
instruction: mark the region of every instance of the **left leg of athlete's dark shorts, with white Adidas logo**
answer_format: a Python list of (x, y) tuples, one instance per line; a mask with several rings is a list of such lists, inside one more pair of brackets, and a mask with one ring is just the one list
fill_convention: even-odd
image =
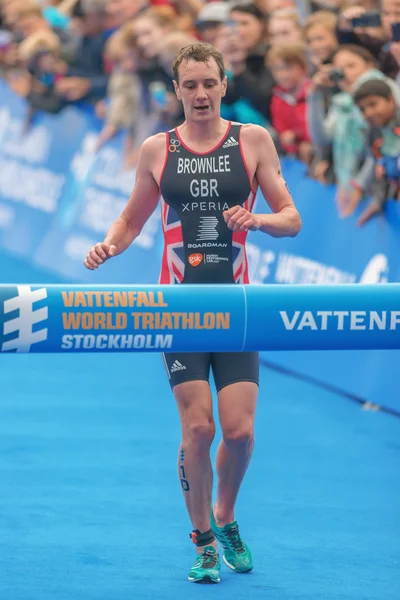
[(209, 352), (165, 352), (162, 357), (171, 388), (184, 381), (209, 381)]

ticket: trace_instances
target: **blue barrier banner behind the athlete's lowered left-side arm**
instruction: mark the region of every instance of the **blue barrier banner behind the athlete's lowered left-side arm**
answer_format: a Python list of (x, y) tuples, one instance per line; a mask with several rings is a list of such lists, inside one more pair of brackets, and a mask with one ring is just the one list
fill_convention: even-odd
[[(123, 168), (123, 135), (96, 151), (96, 120), (86, 114), (82, 118), (83, 133), (71, 159), (60, 209), (34, 253), (38, 266), (75, 281), (88, 279), (84, 258), (91, 246), (104, 240), (120, 216), (135, 181), (135, 171)], [(161, 255), (163, 243), (160, 223), (160, 211), (156, 210), (133, 245), (113, 261), (111, 268), (106, 264), (93, 273), (91, 282), (156, 282), (160, 260), (154, 260), (154, 255)]]

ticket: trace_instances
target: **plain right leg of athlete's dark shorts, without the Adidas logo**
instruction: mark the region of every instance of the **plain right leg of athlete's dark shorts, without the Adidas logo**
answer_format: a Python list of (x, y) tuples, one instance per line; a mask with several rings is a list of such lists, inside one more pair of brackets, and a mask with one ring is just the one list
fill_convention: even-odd
[(211, 366), (217, 392), (239, 381), (249, 381), (259, 385), (258, 352), (213, 352)]

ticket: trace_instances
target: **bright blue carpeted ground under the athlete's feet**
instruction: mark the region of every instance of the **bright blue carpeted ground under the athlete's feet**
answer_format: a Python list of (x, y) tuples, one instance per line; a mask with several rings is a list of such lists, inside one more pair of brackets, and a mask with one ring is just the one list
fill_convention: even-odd
[[(0, 282), (29, 280), (0, 257)], [(237, 505), (255, 569), (196, 586), (160, 357), (2, 355), (0, 373), (1, 600), (400, 597), (400, 419), (262, 368)]]

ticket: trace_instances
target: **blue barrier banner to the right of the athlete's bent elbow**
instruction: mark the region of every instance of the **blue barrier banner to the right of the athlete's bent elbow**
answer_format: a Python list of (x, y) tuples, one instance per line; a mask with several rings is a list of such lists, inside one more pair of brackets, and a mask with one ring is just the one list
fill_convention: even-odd
[[(387, 214), (357, 227), (357, 215), (340, 219), (334, 186), (323, 186), (305, 176), (305, 167), (283, 161), (285, 179), (302, 217), (295, 238), (276, 239), (250, 232), (247, 252), (254, 284), (342, 284), (400, 281), (400, 203), (391, 202)], [(255, 212), (268, 212), (261, 195)]]

